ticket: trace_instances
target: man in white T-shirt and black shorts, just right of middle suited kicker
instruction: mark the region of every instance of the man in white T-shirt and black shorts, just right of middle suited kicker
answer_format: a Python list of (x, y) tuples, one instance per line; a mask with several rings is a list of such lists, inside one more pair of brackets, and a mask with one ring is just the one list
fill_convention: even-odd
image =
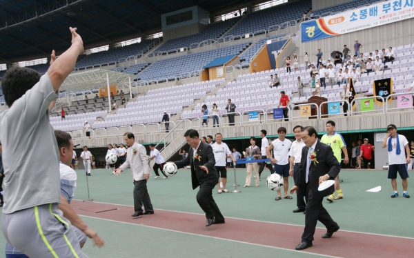
[[(211, 148), (213, 148), (214, 158), (215, 158), (215, 169), (217, 170), (217, 174), (219, 175), (219, 181), (217, 183), (217, 188), (219, 190), (217, 191), (219, 194), (221, 192), (228, 192), (226, 189), (226, 183), (227, 183), (227, 169), (226, 169), (226, 156), (230, 157), (231, 160), (237, 161), (233, 154), (231, 153), (230, 149), (228, 148), (227, 144), (224, 143), (223, 136), (221, 133), (217, 133), (215, 135), (215, 143), (211, 144)], [(223, 186), (221, 186), (220, 183), (220, 177), (221, 177), (221, 183)]]

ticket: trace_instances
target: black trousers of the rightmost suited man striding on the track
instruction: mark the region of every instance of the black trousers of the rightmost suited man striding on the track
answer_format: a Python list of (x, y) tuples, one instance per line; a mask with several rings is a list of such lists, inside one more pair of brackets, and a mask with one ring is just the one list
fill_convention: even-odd
[(307, 183), (305, 230), (302, 235), (302, 240), (312, 243), (317, 221), (324, 224), (328, 231), (333, 231), (337, 227), (337, 224), (322, 205), (324, 198), (314, 198), (309, 191), (308, 185), (309, 184)]

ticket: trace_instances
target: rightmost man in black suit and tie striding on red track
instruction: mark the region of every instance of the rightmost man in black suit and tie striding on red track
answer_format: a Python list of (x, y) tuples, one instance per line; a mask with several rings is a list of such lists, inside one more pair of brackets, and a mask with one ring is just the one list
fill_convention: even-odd
[[(306, 189), (306, 217), (305, 230), (302, 235), (302, 241), (296, 250), (303, 250), (312, 246), (313, 235), (317, 221), (321, 221), (328, 232), (322, 238), (331, 238), (334, 232), (339, 230), (338, 224), (331, 218), (331, 215), (322, 206), (324, 197), (330, 195), (334, 186), (319, 191), (317, 188), (320, 183), (328, 179), (337, 177), (341, 166), (335, 156), (332, 148), (317, 139), (317, 132), (312, 126), (302, 129), (302, 140), (305, 147), (302, 149), (302, 160), (299, 167), (299, 175), (295, 179), (295, 186), (290, 189), (290, 193), (299, 188)], [(311, 159), (311, 155), (315, 159)]]

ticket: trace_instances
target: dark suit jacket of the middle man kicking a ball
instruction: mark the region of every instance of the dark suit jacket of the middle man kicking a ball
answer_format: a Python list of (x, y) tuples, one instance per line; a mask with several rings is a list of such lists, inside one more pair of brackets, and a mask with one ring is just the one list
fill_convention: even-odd
[[(196, 153), (201, 157), (200, 160), (193, 158), (193, 147), (190, 147), (187, 158), (175, 161), (175, 165), (177, 165), (177, 168), (191, 166), (191, 181), (193, 183), (193, 189), (197, 188), (197, 186), (206, 181), (217, 183), (219, 176), (217, 174), (217, 170), (215, 169), (213, 148), (211, 148), (208, 143), (200, 141), (200, 146)], [(208, 174), (206, 171), (199, 168), (199, 166), (205, 166), (208, 168)]]

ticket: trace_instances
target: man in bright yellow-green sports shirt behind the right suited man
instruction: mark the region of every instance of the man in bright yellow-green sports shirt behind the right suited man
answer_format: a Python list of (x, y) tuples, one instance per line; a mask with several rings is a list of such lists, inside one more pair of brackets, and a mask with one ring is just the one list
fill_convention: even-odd
[[(340, 135), (339, 133), (335, 132), (335, 122), (334, 121), (327, 121), (326, 122), (326, 132), (328, 132), (326, 135), (322, 136), (321, 142), (325, 143), (328, 146), (331, 146), (333, 150), (333, 155), (338, 160), (339, 166), (341, 165), (341, 150), (344, 152), (345, 158), (344, 163), (348, 164), (348, 150), (346, 149), (346, 143), (344, 140), (344, 137)], [(341, 172), (339, 170), (339, 172)], [(339, 174), (338, 174), (339, 176)], [(338, 177), (335, 177), (335, 190), (337, 190), (337, 196), (335, 197), (335, 200), (344, 198), (344, 195), (342, 194), (341, 186), (339, 185), (339, 179)], [(335, 196), (335, 191), (332, 195), (329, 195), (328, 198), (326, 198), (329, 202), (333, 202), (333, 197)]]

